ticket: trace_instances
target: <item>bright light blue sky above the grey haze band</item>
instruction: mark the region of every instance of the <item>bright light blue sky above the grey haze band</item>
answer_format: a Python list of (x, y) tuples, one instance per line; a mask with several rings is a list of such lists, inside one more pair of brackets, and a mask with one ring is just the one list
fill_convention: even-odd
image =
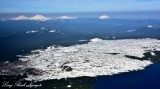
[(0, 0), (0, 13), (160, 11), (160, 0)]

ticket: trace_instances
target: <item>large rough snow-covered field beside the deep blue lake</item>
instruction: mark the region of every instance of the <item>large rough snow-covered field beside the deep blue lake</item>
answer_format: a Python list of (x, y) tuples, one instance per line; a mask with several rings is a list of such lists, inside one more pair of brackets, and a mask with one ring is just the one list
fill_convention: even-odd
[(27, 80), (93, 77), (143, 70), (152, 62), (130, 59), (125, 55), (143, 57), (146, 50), (160, 51), (159, 47), (160, 40), (156, 39), (101, 40), (95, 38), (82, 45), (50, 46), (45, 50), (34, 50), (32, 55), (23, 56), (25, 58), (20, 60), (27, 62), (27, 68), (41, 70), (40, 75), (28, 75)]

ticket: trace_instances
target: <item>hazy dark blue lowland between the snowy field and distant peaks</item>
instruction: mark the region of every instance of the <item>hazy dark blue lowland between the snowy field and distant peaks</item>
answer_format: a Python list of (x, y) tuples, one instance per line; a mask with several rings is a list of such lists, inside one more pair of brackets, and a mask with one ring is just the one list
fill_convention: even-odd
[[(152, 28), (148, 28), (152, 25)], [(45, 29), (41, 29), (45, 27)], [(48, 30), (46, 30), (48, 29)], [(36, 33), (27, 34), (27, 31)], [(56, 30), (50, 33), (50, 30)], [(127, 32), (133, 30), (134, 32)], [(62, 34), (63, 33), (63, 34)], [(81, 44), (78, 40), (157, 38), (160, 21), (155, 19), (75, 19), (51, 21), (0, 21), (0, 59), (16, 60), (16, 55), (51, 45)]]

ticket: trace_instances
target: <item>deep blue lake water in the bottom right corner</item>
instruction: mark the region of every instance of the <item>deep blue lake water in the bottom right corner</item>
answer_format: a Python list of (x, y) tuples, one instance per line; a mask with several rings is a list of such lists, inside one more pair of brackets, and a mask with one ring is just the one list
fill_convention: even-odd
[(160, 64), (145, 70), (114, 76), (97, 77), (95, 89), (160, 89)]

